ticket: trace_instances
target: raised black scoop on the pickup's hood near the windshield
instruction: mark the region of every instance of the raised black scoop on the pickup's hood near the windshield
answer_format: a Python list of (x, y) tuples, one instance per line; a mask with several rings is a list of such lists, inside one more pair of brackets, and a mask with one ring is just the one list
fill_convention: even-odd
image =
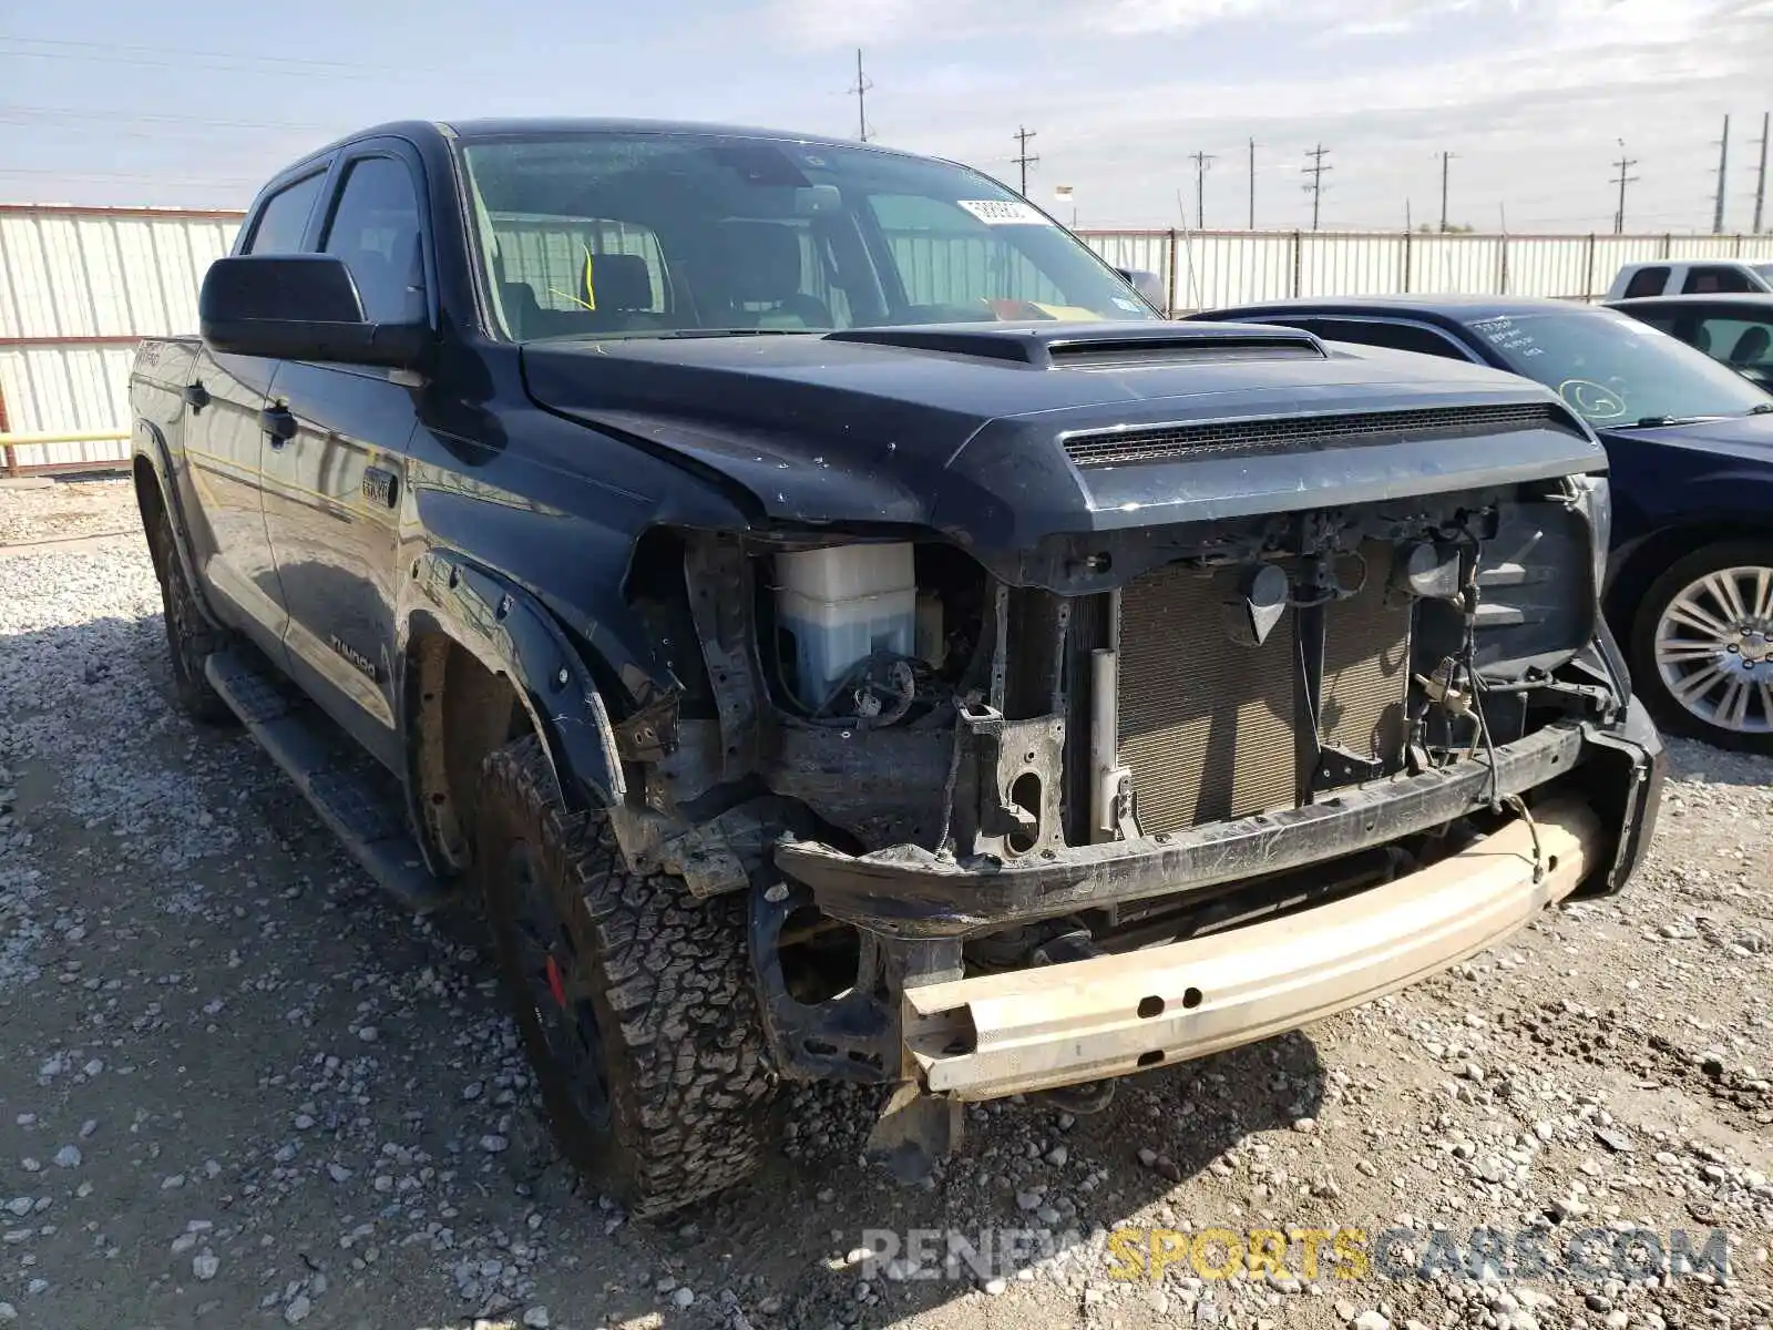
[(941, 323), (846, 328), (830, 342), (1000, 360), (1030, 369), (1136, 369), (1200, 360), (1324, 360), (1323, 344), (1294, 328), (1250, 323)]

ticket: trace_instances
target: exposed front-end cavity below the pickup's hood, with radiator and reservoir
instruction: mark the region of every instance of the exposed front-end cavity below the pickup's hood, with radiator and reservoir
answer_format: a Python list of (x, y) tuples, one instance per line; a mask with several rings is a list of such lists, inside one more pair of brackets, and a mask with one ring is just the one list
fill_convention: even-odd
[[(631, 585), (683, 693), (619, 731), (649, 809), (624, 846), (699, 894), (754, 892), (787, 1066), (892, 1080), (886, 991), (918, 974), (1202, 936), (1392, 881), (1500, 825), (1519, 800), (1498, 784), (1408, 835), (1321, 839), (1298, 867), (1229, 857), (1211, 885), (1087, 862), (1379, 803), (1456, 768), (1495, 778), (1498, 748), (1610, 715), (1597, 495), (1578, 477), (1067, 537), (1028, 560), (1027, 585), (897, 534), (686, 534)], [(1069, 885), (1014, 908), (975, 894), (973, 915), (883, 892), (879, 919), (846, 919), (777, 851)]]

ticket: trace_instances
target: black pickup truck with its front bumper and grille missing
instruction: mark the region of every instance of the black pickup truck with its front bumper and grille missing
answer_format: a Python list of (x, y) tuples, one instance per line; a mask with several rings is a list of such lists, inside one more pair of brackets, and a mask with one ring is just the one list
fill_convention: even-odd
[(484, 899), (638, 1211), (785, 1078), (1099, 1108), (1617, 892), (1661, 745), (1592, 431), (1525, 379), (1168, 323), (963, 167), (392, 124), (142, 348), (172, 677), (417, 908)]

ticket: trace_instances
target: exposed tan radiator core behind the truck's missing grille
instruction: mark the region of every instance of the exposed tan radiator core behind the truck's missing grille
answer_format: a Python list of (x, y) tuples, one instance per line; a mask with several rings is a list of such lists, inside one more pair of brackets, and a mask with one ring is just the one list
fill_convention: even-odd
[[(1324, 608), (1317, 734), (1395, 763), (1410, 608), (1386, 605), (1388, 546), (1362, 555), (1360, 594)], [(1225, 631), (1225, 594), (1211, 575), (1158, 569), (1121, 596), (1121, 763), (1147, 835), (1298, 802), (1294, 619), (1287, 614), (1259, 647), (1239, 645)]]

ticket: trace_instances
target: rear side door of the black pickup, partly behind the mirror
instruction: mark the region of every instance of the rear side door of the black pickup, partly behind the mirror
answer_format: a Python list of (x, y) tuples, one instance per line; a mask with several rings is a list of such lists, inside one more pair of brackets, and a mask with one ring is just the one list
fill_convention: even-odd
[[(238, 254), (294, 254), (326, 183), (324, 163), (278, 183), (246, 222)], [(278, 362), (197, 353), (184, 385), (184, 450), (206, 530), (193, 530), (204, 580), (220, 592), (218, 614), (282, 663), (284, 596), (264, 528), (264, 419)], [(199, 523), (193, 523), (193, 527)]]

